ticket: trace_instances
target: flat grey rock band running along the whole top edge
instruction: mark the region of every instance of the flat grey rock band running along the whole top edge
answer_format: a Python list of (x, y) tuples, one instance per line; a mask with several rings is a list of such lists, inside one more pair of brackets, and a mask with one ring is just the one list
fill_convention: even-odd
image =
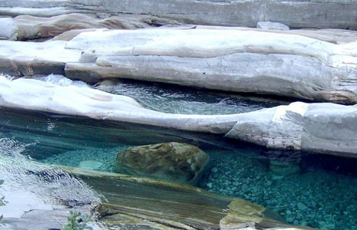
[[(144, 6), (144, 7), (143, 7)], [(44, 10), (41, 10), (41, 7)], [(55, 16), (125, 12), (183, 19), (191, 24), (255, 27), (258, 21), (276, 21), (291, 28), (355, 28), (354, 0), (64, 0), (0, 1), (0, 14)]]

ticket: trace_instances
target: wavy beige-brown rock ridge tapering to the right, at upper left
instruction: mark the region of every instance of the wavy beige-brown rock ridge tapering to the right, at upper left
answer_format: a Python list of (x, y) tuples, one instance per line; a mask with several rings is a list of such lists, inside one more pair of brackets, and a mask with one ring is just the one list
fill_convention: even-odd
[[(12, 24), (10, 24), (10, 22)], [(121, 15), (100, 19), (85, 14), (63, 14), (50, 18), (22, 15), (14, 19), (1, 19), (0, 28), (9, 34), (9, 40), (50, 38), (66, 31), (79, 29), (143, 29), (151, 26), (180, 24), (178, 21), (155, 16)], [(3, 25), (3, 26), (1, 26)], [(11, 33), (10, 33), (11, 30)], [(1, 34), (0, 34), (1, 39)]]

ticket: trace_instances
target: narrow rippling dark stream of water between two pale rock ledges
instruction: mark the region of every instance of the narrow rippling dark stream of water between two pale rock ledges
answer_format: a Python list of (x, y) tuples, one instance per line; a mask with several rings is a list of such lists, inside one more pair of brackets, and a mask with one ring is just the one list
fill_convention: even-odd
[(110, 86), (96, 86), (96, 89), (130, 96), (148, 109), (171, 114), (238, 114), (288, 104), (288, 101), (281, 99), (227, 95), (202, 89), (128, 80), (116, 81)]

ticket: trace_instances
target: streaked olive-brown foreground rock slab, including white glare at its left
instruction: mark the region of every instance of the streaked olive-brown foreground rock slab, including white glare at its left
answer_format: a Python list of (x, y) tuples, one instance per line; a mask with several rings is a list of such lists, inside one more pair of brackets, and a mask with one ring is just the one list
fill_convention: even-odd
[[(4, 179), (1, 194), (5, 192), (9, 201), (6, 205), (13, 205), (14, 209), (17, 204), (16, 199), (11, 199), (11, 192), (29, 193), (21, 196), (22, 203), (18, 204), (19, 209), (26, 211), (19, 216), (5, 212), (2, 221), (6, 226), (1, 229), (61, 229), (67, 224), (69, 211), (94, 214), (94, 220), (99, 214), (101, 219), (89, 224), (95, 230), (106, 229), (100, 227), (103, 224), (113, 229), (213, 230), (228, 216), (227, 210), (235, 214), (236, 221), (253, 224), (251, 226), (282, 224), (279, 216), (263, 206), (184, 184), (41, 164), (6, 154), (0, 154), (0, 166)], [(26, 206), (28, 202), (35, 206)], [(43, 209), (44, 202), (50, 209)], [(63, 205), (55, 208), (53, 204), (58, 202)], [(71, 207), (67, 207), (66, 202)]]

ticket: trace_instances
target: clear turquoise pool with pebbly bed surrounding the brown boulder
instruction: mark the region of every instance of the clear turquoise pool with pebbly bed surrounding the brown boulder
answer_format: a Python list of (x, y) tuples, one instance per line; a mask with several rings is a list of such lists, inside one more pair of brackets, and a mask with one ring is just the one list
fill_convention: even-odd
[[(357, 229), (356, 159), (266, 151), (207, 134), (10, 109), (0, 109), (0, 138), (15, 141), (7, 150), (2, 144), (2, 155), (21, 152), (47, 163), (105, 171), (113, 169), (116, 154), (128, 146), (166, 141), (195, 144), (212, 158), (212, 169), (200, 184), (203, 189), (262, 204), (291, 224)], [(21, 151), (14, 146), (21, 146)], [(23, 155), (13, 157), (11, 163), (0, 161), (1, 174), (21, 178)], [(39, 173), (43, 171), (31, 174), (26, 169), (26, 176), (33, 178), (30, 183), (46, 184), (46, 174)], [(64, 184), (72, 183), (77, 182)], [(46, 189), (37, 191), (50, 194)]]

